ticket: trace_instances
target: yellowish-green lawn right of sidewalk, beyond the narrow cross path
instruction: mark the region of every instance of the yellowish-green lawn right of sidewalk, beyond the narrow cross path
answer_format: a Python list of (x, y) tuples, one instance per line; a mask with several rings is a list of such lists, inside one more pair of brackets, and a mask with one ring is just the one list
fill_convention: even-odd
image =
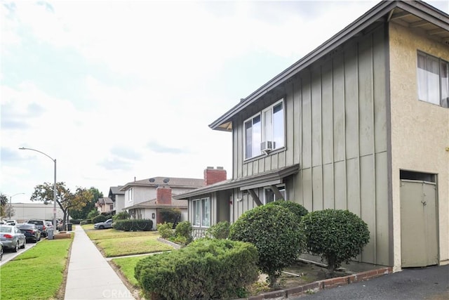
[(88, 237), (102, 249), (106, 257), (164, 252), (173, 250), (168, 244), (159, 242), (157, 231), (120, 231), (115, 229), (93, 229), (83, 225)]

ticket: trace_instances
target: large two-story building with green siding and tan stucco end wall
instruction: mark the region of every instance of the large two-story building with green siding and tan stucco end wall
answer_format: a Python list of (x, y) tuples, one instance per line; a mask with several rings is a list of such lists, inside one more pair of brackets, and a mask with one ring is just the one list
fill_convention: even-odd
[(210, 124), (232, 132), (232, 179), (174, 198), (197, 234), (282, 199), (349, 209), (359, 261), (447, 264), (448, 62), (448, 14), (382, 1)]

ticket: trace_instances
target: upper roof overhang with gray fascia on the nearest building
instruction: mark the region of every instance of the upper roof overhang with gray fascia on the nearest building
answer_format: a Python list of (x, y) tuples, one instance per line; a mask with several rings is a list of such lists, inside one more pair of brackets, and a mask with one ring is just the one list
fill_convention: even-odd
[(212, 122), (209, 127), (215, 130), (232, 131), (232, 119), (242, 110), (323, 56), (335, 51), (344, 42), (356, 37), (358, 34), (363, 34), (365, 30), (368, 30), (377, 22), (398, 22), (407, 27), (420, 28), (432, 38), (449, 44), (449, 15), (447, 13), (423, 1), (381, 1), (371, 8), (370, 11), (361, 15), (361, 17), (351, 22), (351, 24), (325, 41), (318, 48), (315, 48), (314, 51), (311, 51), (266, 84), (262, 85), (259, 89), (251, 93), (250, 96), (241, 99), (240, 103)]

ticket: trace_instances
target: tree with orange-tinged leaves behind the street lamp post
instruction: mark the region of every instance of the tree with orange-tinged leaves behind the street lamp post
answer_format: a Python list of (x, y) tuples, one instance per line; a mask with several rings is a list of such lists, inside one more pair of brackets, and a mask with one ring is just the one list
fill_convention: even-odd
[[(56, 203), (64, 213), (62, 226), (65, 227), (69, 210), (85, 207), (92, 197), (91, 190), (86, 190), (86, 188), (76, 187), (75, 193), (72, 193), (64, 182), (56, 183)], [(53, 183), (36, 185), (30, 200), (43, 202), (43, 204), (53, 203)]]

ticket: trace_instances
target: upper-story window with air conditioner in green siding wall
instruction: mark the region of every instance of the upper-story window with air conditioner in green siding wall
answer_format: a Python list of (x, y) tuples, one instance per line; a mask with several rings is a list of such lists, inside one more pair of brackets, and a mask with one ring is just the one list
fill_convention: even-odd
[(262, 152), (283, 148), (284, 139), (283, 100), (267, 107), (245, 121), (245, 159)]

